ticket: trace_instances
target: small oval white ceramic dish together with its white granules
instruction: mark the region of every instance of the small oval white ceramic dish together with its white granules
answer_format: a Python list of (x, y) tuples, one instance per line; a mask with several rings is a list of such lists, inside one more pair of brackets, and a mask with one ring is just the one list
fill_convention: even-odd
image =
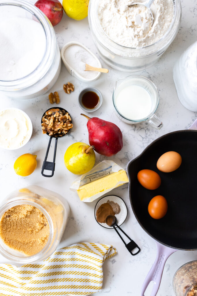
[(101, 68), (99, 59), (79, 42), (68, 42), (61, 50), (61, 58), (68, 72), (83, 82), (95, 81), (100, 76), (97, 71), (85, 71), (86, 64)]

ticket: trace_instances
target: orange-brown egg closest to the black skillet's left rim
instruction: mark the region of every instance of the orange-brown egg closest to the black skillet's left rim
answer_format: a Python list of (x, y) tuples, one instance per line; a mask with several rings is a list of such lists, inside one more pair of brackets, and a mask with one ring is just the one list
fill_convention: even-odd
[(140, 170), (137, 178), (139, 183), (149, 190), (157, 189), (162, 182), (160, 176), (154, 170)]

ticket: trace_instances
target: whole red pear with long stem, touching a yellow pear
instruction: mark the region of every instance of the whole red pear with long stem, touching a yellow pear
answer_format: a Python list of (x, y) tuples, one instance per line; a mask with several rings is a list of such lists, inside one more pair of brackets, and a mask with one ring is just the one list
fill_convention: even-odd
[(98, 117), (88, 117), (87, 129), (89, 133), (89, 144), (95, 146), (95, 151), (101, 155), (112, 156), (123, 147), (123, 135), (118, 126)]

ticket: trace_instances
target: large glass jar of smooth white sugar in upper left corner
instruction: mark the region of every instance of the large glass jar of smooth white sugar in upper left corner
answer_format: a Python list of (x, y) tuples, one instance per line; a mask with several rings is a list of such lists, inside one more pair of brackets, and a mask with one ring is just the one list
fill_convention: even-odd
[(34, 5), (0, 0), (0, 91), (30, 99), (47, 92), (61, 68), (53, 26)]

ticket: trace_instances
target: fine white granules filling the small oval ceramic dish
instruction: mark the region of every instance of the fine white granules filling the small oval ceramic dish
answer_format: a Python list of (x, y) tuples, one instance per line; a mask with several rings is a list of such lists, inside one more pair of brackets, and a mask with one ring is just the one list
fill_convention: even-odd
[(85, 64), (99, 67), (97, 60), (86, 49), (78, 44), (70, 45), (64, 52), (64, 58), (73, 70), (84, 78), (92, 79), (98, 75), (97, 71), (85, 71)]

